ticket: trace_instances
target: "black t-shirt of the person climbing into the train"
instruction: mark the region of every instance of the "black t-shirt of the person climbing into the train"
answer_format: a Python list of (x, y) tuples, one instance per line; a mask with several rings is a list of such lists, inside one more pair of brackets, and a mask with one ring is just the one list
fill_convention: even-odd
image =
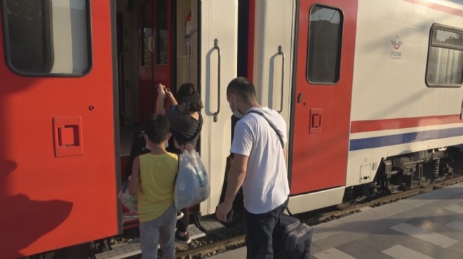
[(172, 137), (169, 139), (168, 151), (170, 150), (169, 152), (180, 153), (180, 151), (174, 147), (174, 138), (177, 140), (179, 145), (191, 144), (196, 148), (199, 132), (201, 132), (201, 128), (203, 127), (203, 118), (201, 113), (199, 113), (199, 120), (196, 120), (189, 114), (182, 113), (175, 109), (173, 111), (166, 111), (166, 117), (170, 123), (170, 132), (172, 132)]

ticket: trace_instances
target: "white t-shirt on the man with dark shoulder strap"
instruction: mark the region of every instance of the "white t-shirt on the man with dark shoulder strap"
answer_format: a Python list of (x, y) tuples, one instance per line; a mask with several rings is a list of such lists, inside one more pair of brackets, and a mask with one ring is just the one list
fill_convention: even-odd
[[(286, 122), (280, 113), (267, 107), (260, 111), (287, 142)], [(252, 214), (263, 214), (279, 207), (288, 199), (288, 172), (280, 139), (265, 118), (248, 113), (236, 123), (231, 153), (248, 156), (243, 181), (244, 207)]]

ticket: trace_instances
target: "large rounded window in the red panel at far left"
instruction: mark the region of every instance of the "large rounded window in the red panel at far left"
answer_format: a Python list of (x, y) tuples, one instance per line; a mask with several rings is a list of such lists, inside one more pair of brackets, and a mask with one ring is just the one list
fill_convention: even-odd
[(23, 76), (82, 76), (90, 70), (87, 0), (4, 0), (8, 66)]

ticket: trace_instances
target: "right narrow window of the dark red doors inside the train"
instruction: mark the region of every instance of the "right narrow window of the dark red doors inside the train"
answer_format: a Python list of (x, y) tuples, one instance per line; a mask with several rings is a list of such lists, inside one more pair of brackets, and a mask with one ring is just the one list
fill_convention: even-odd
[(157, 31), (156, 31), (156, 64), (167, 64), (167, 3), (166, 0), (158, 0)]

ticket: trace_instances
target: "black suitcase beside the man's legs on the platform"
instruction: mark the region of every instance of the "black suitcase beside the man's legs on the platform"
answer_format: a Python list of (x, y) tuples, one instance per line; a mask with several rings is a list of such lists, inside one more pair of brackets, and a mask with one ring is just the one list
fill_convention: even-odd
[(274, 232), (275, 259), (309, 259), (314, 229), (297, 218), (281, 214)]

